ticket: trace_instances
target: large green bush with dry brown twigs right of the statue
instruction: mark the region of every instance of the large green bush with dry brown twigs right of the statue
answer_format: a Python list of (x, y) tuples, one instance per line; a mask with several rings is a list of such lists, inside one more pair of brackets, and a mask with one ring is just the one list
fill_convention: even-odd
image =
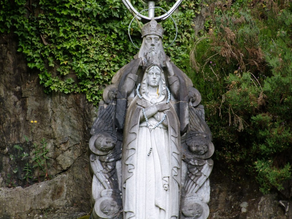
[[(255, 177), (263, 193), (289, 191), (283, 183), (292, 178), (292, 3), (210, 1), (208, 9), (212, 29), (194, 44), (191, 65), (207, 97), (217, 165), (235, 179)], [(213, 86), (211, 95), (204, 84)]]

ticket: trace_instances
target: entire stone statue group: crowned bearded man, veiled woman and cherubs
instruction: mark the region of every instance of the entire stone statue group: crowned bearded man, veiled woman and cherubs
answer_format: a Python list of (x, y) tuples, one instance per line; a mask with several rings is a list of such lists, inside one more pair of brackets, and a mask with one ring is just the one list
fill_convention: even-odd
[(139, 53), (104, 90), (89, 141), (93, 219), (208, 218), (212, 135), (163, 32), (146, 23)]

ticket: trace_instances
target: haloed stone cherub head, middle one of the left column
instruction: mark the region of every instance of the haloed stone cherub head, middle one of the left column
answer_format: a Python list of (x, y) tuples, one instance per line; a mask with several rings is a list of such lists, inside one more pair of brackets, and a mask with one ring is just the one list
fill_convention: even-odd
[(91, 152), (97, 155), (109, 154), (116, 143), (108, 133), (96, 133), (89, 140), (89, 148)]

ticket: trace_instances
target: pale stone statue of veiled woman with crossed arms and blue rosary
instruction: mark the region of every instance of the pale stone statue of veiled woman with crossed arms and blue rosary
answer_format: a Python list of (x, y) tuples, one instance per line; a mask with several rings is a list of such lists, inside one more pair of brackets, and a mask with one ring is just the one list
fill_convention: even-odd
[(159, 65), (147, 67), (127, 110), (122, 146), (124, 219), (178, 218), (180, 123), (171, 100), (180, 88), (169, 82), (173, 77), (168, 75), (166, 83)]

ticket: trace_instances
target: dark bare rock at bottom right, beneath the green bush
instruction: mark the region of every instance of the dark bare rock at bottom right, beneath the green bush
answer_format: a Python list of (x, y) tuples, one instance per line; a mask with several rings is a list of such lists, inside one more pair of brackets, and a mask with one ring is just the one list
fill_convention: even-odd
[[(214, 168), (216, 165), (214, 165)], [(210, 176), (209, 219), (285, 219), (277, 194), (263, 195), (248, 177), (234, 182), (217, 166)]]

